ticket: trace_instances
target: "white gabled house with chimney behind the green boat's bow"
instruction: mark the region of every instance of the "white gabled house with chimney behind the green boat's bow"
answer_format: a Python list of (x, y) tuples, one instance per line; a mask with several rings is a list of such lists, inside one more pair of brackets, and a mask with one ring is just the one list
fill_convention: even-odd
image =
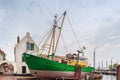
[(17, 44), (14, 48), (15, 62), (16, 62), (16, 74), (29, 74), (30, 71), (27, 67), (27, 64), (24, 62), (23, 53), (28, 52), (33, 55), (36, 55), (39, 48), (36, 43), (33, 41), (30, 33), (27, 32), (26, 36), (20, 40), (19, 36), (17, 38)]

